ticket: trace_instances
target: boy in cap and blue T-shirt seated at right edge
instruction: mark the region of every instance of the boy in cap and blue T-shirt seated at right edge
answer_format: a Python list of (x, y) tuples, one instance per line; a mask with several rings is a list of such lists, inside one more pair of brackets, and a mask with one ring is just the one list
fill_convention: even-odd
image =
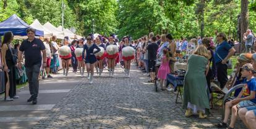
[[(256, 80), (254, 79), (254, 68), (252, 67), (252, 64), (247, 63), (244, 66), (242, 66), (242, 77), (246, 78), (244, 80), (244, 87), (242, 88), (242, 91), (239, 93), (237, 98), (225, 104), (224, 120), (223, 122), (217, 124), (218, 128), (234, 128), (238, 110), (241, 108), (256, 105)], [(228, 118), (231, 109), (231, 122), (228, 126)]]

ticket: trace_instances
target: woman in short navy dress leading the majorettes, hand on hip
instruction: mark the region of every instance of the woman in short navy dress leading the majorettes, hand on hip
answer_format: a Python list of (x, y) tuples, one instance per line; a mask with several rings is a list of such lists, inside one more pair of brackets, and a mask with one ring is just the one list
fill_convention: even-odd
[[(97, 49), (95, 52), (93, 52), (94, 49)], [(86, 52), (86, 56), (85, 56)], [(93, 84), (93, 68), (94, 63), (97, 61), (95, 53), (100, 52), (100, 48), (92, 43), (92, 36), (87, 37), (87, 44), (83, 46), (83, 60), (85, 60), (85, 63), (90, 65), (90, 84)]]

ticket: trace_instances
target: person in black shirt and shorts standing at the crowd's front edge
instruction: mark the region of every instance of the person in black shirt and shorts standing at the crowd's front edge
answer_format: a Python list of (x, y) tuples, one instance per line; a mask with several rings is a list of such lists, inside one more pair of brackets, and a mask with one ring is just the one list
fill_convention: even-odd
[(150, 72), (150, 81), (154, 82), (155, 80), (155, 65), (156, 65), (156, 55), (158, 50), (158, 44), (156, 44), (156, 37), (151, 38), (151, 44), (147, 46), (148, 50), (148, 69)]

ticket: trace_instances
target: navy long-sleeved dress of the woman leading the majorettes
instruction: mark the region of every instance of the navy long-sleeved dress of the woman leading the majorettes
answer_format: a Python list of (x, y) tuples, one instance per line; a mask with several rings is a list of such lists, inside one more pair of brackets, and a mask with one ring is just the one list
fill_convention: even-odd
[[(94, 49), (97, 49), (96, 52), (93, 52)], [(85, 50), (86, 50), (86, 57), (84, 57)], [(96, 44), (92, 44), (91, 47), (88, 47), (88, 45), (85, 44), (83, 45), (82, 58), (85, 59), (87, 63), (93, 64), (97, 61), (95, 57), (95, 53), (98, 53), (98, 52), (100, 52), (100, 48)]]

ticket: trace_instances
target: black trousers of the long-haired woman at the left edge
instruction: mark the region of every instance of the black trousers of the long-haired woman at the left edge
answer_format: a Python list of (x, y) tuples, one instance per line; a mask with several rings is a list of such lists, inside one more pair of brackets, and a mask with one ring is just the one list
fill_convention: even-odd
[[(13, 98), (16, 95), (16, 76), (15, 76), (16, 68), (15, 68), (15, 66), (8, 66), (8, 69), (10, 69), (10, 71), (8, 72), (8, 74), (9, 74), (9, 84), (10, 84), (9, 96), (10, 96), (10, 98)], [(4, 76), (5, 76), (4, 77), (5, 82), (7, 84), (7, 74), (6, 74), (6, 72), (4, 72)], [(5, 89), (6, 89), (6, 87), (5, 87)], [(5, 98), (6, 98), (6, 96), (5, 96)]]

